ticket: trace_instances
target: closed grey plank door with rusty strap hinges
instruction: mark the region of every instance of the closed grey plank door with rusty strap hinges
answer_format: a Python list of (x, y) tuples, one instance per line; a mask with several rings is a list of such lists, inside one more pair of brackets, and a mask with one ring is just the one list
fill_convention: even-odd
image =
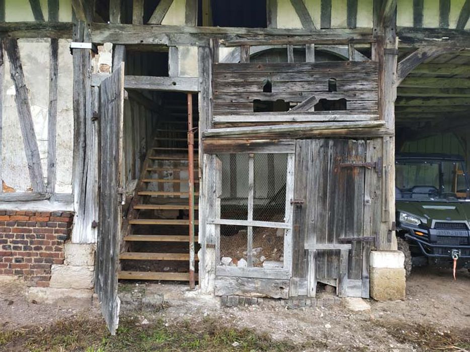
[[(302, 199), (296, 223), (303, 244), (308, 294), (317, 281), (337, 287), (339, 296), (369, 296), (368, 256), (373, 240), (366, 206), (367, 142), (350, 139), (301, 140), (296, 145), (295, 198)], [(302, 171), (303, 170), (303, 171)], [(302, 194), (304, 195), (302, 197)], [(370, 202), (368, 202), (370, 203)], [(301, 259), (302, 255), (298, 255)]]

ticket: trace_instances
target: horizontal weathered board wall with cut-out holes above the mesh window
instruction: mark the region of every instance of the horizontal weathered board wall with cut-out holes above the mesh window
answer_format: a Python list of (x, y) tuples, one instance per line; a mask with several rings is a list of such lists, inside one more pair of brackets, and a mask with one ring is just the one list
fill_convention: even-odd
[[(347, 110), (334, 113), (366, 114), (370, 117), (366, 116), (363, 119), (372, 120), (377, 114), (377, 69), (377, 62), (374, 61), (215, 63), (213, 65), (214, 123), (237, 121), (240, 126), (240, 122), (257, 122), (260, 116), (271, 115), (269, 112), (254, 113), (254, 100), (301, 103), (312, 96), (317, 100), (346, 99)], [(336, 79), (337, 92), (329, 92), (330, 78)], [(267, 80), (272, 84), (272, 93), (263, 92)], [(237, 114), (240, 114), (240, 117), (234, 118)], [(299, 109), (286, 114), (292, 114), (292, 119), (295, 119), (297, 114), (322, 113), (311, 110), (302, 112)], [(228, 115), (230, 120), (227, 121)], [(287, 117), (285, 120), (287, 121)], [(277, 118), (276, 121), (282, 122), (282, 119)], [(345, 121), (348, 121), (347, 117)]]

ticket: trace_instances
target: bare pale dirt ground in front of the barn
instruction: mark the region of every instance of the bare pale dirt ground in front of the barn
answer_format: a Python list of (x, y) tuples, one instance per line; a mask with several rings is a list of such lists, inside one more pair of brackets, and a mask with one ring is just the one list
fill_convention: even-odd
[[(414, 269), (407, 282), (406, 301), (370, 300), (370, 311), (364, 312), (353, 312), (342, 305), (300, 309), (286, 309), (278, 304), (220, 307), (217, 299), (175, 284), (129, 284), (126, 290), (142, 290), (149, 285), (151, 291), (164, 294), (167, 304), (158, 311), (126, 313), (133, 315), (136, 325), (161, 321), (172, 327), (189, 321), (198, 326), (210, 318), (219, 326), (247, 328), (267, 334), (273, 341), (289, 341), (298, 347), (289, 350), (470, 350), (470, 274), (466, 270), (459, 271), (454, 281), (450, 270)], [(0, 302), (0, 326), (2, 330), (44, 327), (57, 319), (83, 314), (100, 319), (96, 305), (70, 307), (67, 302), (62, 303), (63, 307), (57, 307), (4, 297)], [(233, 346), (229, 350), (237, 350), (237, 344)], [(0, 350), (22, 349), (2, 348), (0, 342)]]

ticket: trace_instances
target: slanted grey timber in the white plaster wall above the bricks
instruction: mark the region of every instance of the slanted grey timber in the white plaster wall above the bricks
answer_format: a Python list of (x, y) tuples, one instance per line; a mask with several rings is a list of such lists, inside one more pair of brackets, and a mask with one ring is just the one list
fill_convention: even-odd
[(6, 39), (5, 49), (10, 61), (10, 75), (15, 85), (15, 103), (20, 120), (21, 134), (28, 162), (29, 174), (33, 191), (45, 192), (44, 174), (42, 172), (39, 147), (34, 132), (33, 117), (29, 104), (28, 89), (26, 87), (25, 75), (21, 64), (20, 50), (16, 39)]

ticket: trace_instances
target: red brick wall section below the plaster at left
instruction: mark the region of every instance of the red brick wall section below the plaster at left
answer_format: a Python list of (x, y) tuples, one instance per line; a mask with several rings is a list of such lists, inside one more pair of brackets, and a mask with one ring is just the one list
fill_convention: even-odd
[(0, 211), (0, 275), (48, 287), (51, 265), (63, 263), (72, 220), (70, 212)]

